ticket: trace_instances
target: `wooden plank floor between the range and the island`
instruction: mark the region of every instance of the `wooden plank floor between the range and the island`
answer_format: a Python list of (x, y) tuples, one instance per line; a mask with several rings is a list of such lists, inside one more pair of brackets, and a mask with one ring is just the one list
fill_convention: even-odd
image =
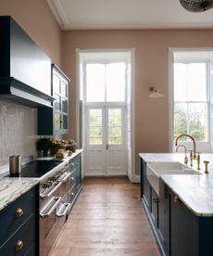
[(160, 255), (140, 186), (127, 178), (86, 178), (49, 256)]

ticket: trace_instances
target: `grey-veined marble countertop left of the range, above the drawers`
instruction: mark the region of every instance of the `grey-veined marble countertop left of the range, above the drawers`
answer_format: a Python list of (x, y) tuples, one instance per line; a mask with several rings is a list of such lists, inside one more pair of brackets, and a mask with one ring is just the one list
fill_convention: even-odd
[(1, 178), (0, 211), (38, 183), (36, 178)]

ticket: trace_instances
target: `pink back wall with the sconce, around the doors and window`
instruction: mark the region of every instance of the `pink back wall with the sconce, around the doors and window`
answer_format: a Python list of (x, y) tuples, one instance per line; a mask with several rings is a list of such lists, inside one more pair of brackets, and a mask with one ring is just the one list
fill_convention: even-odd
[[(213, 30), (109, 30), (62, 32), (62, 67), (71, 78), (71, 131), (75, 138), (75, 49), (135, 48), (135, 153), (169, 150), (169, 47), (213, 47)], [(157, 86), (163, 98), (148, 98)], [(136, 159), (136, 173), (139, 158)]]

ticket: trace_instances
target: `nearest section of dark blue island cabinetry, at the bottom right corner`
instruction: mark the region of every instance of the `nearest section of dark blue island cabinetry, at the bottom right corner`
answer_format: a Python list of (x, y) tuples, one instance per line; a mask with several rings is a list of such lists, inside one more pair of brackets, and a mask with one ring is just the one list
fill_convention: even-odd
[(168, 187), (170, 255), (210, 256), (213, 218), (196, 216)]

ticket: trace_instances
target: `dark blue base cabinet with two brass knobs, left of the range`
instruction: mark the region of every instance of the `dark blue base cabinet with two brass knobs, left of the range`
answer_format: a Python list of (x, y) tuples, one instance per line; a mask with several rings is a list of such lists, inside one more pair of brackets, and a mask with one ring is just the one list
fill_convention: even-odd
[(38, 187), (0, 211), (0, 255), (39, 255)]

